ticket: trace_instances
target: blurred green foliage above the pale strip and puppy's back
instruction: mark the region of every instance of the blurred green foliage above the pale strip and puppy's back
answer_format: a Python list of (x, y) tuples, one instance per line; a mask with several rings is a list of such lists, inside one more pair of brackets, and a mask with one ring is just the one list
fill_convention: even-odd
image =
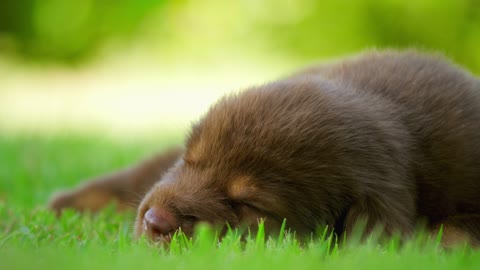
[(2, 0), (2, 51), (72, 63), (115, 41), (183, 55), (312, 59), (422, 47), (480, 69), (478, 0)]

